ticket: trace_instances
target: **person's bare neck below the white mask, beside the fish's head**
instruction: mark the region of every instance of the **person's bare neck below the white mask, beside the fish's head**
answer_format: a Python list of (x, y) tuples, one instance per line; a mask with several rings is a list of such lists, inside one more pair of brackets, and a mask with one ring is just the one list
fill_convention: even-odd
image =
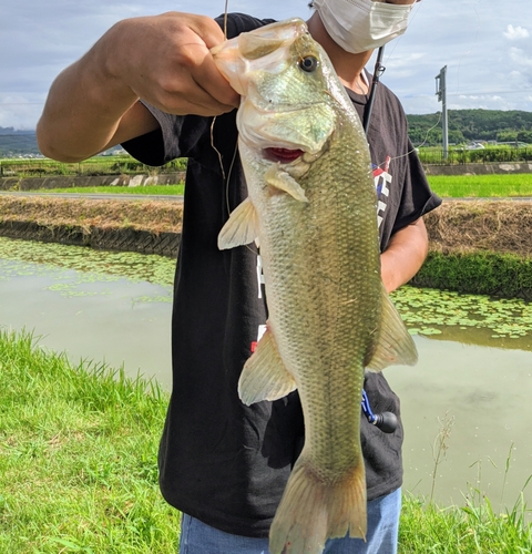
[(359, 54), (346, 52), (330, 38), (317, 11), (311, 14), (307, 25), (313, 39), (321, 44), (330, 58), (341, 83), (354, 92), (367, 94), (368, 86), (361, 78), (361, 73), (371, 58), (372, 51)]

